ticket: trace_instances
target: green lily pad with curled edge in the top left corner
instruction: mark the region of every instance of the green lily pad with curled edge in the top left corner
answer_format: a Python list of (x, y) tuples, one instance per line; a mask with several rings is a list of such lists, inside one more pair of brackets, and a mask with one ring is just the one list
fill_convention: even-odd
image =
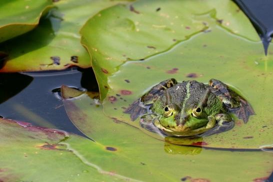
[(51, 0), (1, 0), (0, 42), (35, 28), (51, 7)]

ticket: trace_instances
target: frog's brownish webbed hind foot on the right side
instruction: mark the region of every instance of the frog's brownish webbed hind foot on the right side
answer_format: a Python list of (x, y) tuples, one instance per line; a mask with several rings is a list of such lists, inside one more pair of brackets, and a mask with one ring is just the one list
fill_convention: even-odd
[(244, 123), (247, 123), (249, 116), (254, 115), (255, 113), (246, 100), (242, 99), (241, 97), (239, 100), (240, 107), (237, 109), (230, 109), (229, 111), (235, 114), (239, 119), (242, 119)]

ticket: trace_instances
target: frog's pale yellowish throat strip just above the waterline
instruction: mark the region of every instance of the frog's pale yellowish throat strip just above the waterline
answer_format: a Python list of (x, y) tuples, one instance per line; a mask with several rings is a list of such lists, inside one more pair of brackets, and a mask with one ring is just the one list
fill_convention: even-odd
[(205, 127), (197, 128), (195, 130), (190, 130), (190, 131), (173, 131), (168, 128), (163, 127), (159, 120), (154, 120), (153, 125), (157, 127), (159, 130), (161, 130), (163, 133), (169, 136), (176, 136), (176, 137), (187, 137), (187, 136), (193, 136), (193, 135), (198, 135), (201, 133), (206, 132), (208, 129)]

